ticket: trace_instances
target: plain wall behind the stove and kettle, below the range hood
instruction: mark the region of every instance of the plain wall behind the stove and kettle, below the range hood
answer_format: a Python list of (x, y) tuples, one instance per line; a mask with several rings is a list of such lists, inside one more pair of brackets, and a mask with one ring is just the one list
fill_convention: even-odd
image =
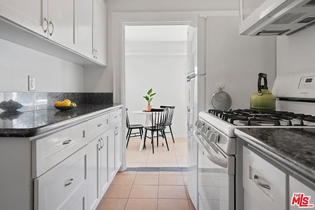
[(207, 18), (207, 109), (216, 84), (232, 99), (231, 109), (249, 109), (251, 94), (257, 90), (258, 73), (266, 73), (268, 88), (276, 76), (276, 38), (238, 34), (238, 16)]

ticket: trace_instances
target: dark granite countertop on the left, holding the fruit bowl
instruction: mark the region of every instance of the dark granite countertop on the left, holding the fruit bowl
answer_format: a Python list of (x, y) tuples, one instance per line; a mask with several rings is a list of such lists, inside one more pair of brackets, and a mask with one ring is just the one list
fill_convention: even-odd
[(2, 112), (0, 137), (33, 137), (90, 119), (121, 106), (121, 104), (80, 104), (75, 109), (66, 111), (54, 107), (15, 114)]

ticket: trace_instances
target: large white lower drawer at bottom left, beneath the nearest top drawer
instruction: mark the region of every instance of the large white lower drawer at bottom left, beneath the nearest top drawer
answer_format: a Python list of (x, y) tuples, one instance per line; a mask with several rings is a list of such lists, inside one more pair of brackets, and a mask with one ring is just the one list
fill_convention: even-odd
[(87, 184), (86, 148), (34, 180), (34, 210), (59, 210)]

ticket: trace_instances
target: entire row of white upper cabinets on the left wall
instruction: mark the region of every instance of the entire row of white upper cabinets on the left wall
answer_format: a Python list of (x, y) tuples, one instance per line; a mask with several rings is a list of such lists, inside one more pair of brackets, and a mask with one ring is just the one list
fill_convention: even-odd
[(106, 18), (104, 0), (0, 0), (0, 38), (83, 66), (105, 66)]

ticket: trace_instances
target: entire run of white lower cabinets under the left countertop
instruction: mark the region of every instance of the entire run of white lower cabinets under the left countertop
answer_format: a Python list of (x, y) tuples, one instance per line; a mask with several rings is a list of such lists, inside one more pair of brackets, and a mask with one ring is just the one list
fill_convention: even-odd
[(0, 210), (95, 210), (122, 165), (122, 122), (109, 124), (110, 113), (44, 137), (0, 137)]

